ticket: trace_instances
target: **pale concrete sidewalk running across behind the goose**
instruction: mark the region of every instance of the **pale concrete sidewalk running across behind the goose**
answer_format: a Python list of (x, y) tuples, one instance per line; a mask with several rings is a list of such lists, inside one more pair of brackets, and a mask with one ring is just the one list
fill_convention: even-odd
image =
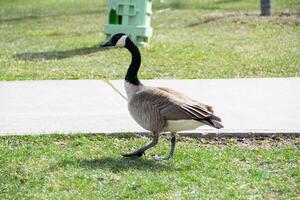
[[(124, 94), (123, 81), (110, 82)], [(151, 80), (214, 106), (224, 129), (202, 135), (300, 133), (300, 78)], [(126, 96), (126, 95), (125, 95)], [(0, 82), (0, 135), (147, 132), (125, 99), (97, 80)]]

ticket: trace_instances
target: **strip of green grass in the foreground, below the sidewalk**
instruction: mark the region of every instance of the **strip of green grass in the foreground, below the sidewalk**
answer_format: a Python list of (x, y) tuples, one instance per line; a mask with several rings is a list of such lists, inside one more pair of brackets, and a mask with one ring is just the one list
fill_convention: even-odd
[(144, 137), (52, 135), (0, 137), (0, 199), (296, 199), (299, 138), (179, 137), (140, 159), (123, 159)]

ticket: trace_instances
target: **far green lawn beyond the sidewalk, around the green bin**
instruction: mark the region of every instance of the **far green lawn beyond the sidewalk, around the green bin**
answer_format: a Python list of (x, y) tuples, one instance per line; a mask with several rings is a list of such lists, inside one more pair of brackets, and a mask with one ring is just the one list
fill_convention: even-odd
[[(140, 77), (299, 76), (300, 3), (272, 4), (274, 16), (260, 17), (258, 0), (153, 1), (154, 35), (141, 50)], [(126, 50), (97, 48), (105, 40), (105, 5), (2, 0), (0, 80), (122, 79)]]

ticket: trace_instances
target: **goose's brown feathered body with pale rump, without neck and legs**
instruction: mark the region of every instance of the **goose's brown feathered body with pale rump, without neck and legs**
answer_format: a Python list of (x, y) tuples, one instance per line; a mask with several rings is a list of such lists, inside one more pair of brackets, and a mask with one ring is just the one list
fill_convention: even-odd
[[(182, 131), (202, 125), (221, 128), (221, 119), (211, 106), (169, 88), (133, 85), (125, 82), (128, 110), (133, 119), (151, 132)], [(174, 129), (176, 121), (182, 124)], [(187, 124), (187, 126), (184, 126)], [(189, 126), (190, 125), (190, 126)]]

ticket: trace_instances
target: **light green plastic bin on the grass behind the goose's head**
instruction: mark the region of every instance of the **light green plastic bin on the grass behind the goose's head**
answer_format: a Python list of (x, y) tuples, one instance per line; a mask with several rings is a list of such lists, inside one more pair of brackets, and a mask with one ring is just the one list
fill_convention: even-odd
[(126, 33), (137, 45), (146, 46), (153, 31), (151, 7), (151, 0), (110, 0), (104, 33), (107, 37)]

